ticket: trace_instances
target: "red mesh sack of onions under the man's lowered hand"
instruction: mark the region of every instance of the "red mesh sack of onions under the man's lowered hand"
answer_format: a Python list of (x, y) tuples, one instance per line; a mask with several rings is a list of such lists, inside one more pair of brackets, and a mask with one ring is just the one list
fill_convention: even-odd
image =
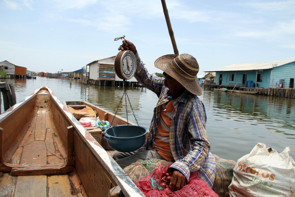
[[(172, 192), (168, 187), (170, 181), (166, 179), (167, 177), (163, 177), (170, 165), (156, 168), (149, 176), (143, 177), (136, 183), (136, 186), (146, 197), (218, 197), (207, 183), (199, 178), (199, 172), (192, 172), (188, 184), (181, 190)], [(163, 183), (165, 184), (163, 185)]]

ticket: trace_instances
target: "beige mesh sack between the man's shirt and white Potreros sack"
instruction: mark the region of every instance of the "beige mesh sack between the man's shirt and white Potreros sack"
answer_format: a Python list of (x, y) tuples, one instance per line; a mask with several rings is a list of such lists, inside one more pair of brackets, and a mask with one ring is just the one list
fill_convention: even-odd
[(233, 169), (236, 162), (233, 160), (222, 159), (217, 155), (214, 155), (216, 161), (216, 175), (213, 184), (213, 191), (215, 191), (219, 197), (229, 197), (230, 193), (228, 186), (232, 182)]

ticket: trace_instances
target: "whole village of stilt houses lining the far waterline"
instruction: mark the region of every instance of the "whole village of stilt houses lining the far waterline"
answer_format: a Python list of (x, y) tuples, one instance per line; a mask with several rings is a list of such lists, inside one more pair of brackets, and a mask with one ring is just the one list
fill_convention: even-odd
[[(17, 66), (9, 61), (0, 62), (1, 78), (26, 78), (28, 74), (49, 78), (74, 78), (81, 79), (83, 84), (103, 86), (122, 85), (123, 80), (116, 75), (114, 61), (116, 56), (95, 60), (76, 71), (57, 73), (35, 72)], [(274, 61), (263, 63), (232, 64), (219, 69), (208, 70), (198, 74), (202, 87), (214, 88), (248, 88), (258, 91), (259, 88), (284, 88), (294, 89), (295, 60)], [(128, 86), (138, 85), (133, 77), (128, 80)], [(249, 89), (255, 88), (255, 89)], [(264, 91), (265, 92), (265, 91)]]

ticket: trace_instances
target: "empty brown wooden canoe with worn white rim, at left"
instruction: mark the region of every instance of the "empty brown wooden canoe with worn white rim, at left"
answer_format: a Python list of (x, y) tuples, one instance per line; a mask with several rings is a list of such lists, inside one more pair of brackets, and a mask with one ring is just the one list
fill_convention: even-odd
[(0, 143), (0, 196), (144, 196), (46, 86), (0, 115)]

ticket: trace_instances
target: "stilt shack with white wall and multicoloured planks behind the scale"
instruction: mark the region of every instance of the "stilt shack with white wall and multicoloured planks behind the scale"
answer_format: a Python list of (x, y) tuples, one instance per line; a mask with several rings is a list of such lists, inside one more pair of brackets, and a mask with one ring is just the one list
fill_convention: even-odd
[(86, 66), (89, 66), (89, 79), (98, 80), (98, 85), (101, 82), (106, 84), (111, 84), (114, 86), (115, 82), (115, 58), (116, 56), (93, 61)]

